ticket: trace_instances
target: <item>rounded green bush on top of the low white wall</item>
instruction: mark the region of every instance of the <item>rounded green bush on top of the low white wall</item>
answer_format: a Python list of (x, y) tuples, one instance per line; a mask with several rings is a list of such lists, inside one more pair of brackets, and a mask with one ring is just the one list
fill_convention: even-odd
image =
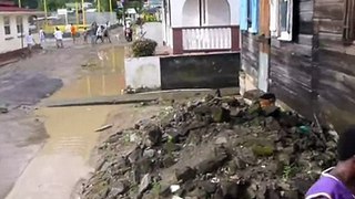
[(136, 40), (132, 44), (133, 56), (152, 56), (158, 43), (150, 39)]

